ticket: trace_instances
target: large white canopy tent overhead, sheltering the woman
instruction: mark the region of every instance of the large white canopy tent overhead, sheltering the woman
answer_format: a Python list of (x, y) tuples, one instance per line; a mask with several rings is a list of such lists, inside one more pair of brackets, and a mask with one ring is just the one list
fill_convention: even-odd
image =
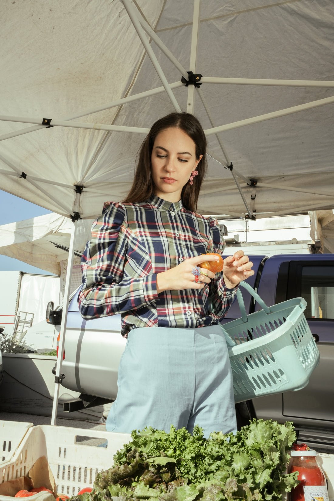
[[(93, 218), (125, 196), (151, 124), (181, 109), (209, 139), (199, 212), (333, 207), (331, 0), (17, 0), (0, 9), (2, 189)], [(62, 346), (65, 324), (66, 314)], [(61, 350), (57, 381), (60, 369)]]

